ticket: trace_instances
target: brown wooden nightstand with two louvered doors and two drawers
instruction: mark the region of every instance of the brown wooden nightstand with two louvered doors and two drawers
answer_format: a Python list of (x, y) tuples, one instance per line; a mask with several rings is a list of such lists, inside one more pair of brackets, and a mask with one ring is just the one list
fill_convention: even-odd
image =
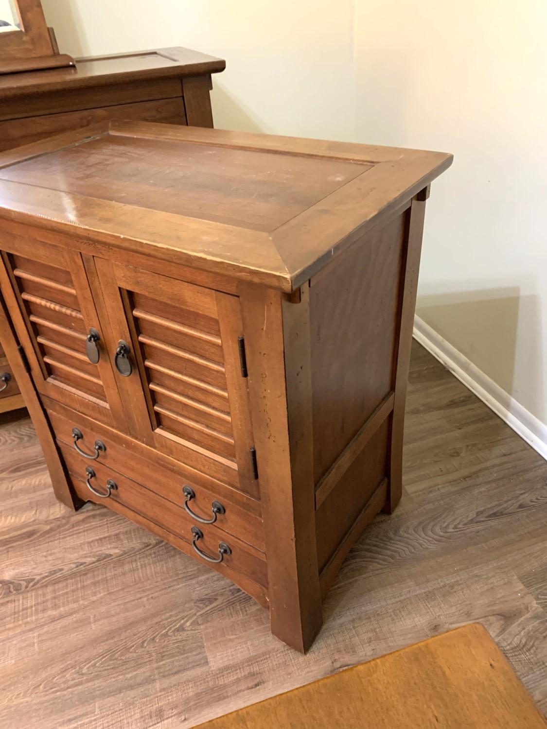
[(0, 284), (57, 498), (216, 569), (306, 650), (400, 500), (424, 209), (450, 164), (142, 122), (0, 155)]

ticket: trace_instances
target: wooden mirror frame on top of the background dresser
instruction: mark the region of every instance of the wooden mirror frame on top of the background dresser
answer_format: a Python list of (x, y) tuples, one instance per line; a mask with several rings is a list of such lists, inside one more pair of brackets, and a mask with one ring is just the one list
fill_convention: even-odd
[(56, 50), (41, 0), (14, 2), (21, 28), (0, 33), (0, 74), (74, 66), (69, 55)]

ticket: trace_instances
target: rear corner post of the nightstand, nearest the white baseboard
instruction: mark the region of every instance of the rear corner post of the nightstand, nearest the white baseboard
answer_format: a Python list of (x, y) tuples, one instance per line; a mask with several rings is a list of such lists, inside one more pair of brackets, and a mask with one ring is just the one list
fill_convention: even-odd
[(403, 495), (403, 429), (405, 424), (408, 367), (412, 348), (414, 311), (418, 292), (418, 273), (422, 254), (425, 201), (430, 196), (430, 186), (424, 187), (412, 198), (408, 210), (405, 251), (403, 254), (403, 278), (401, 282), (400, 328), (395, 356), (395, 400), (391, 423), (389, 449), (389, 485), (384, 512), (391, 514)]

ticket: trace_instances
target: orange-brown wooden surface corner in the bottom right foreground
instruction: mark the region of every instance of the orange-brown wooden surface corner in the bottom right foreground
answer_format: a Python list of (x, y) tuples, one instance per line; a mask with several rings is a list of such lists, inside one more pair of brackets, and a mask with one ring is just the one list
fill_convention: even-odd
[(480, 623), (346, 668), (199, 729), (546, 729)]

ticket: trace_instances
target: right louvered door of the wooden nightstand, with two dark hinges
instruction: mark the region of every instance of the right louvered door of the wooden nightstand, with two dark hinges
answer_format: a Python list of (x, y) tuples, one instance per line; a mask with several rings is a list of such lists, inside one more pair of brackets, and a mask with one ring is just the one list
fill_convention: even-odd
[[(112, 331), (128, 344), (126, 408), (138, 437), (233, 488), (258, 496), (239, 299), (96, 260)], [(125, 364), (125, 363), (120, 363)]]

